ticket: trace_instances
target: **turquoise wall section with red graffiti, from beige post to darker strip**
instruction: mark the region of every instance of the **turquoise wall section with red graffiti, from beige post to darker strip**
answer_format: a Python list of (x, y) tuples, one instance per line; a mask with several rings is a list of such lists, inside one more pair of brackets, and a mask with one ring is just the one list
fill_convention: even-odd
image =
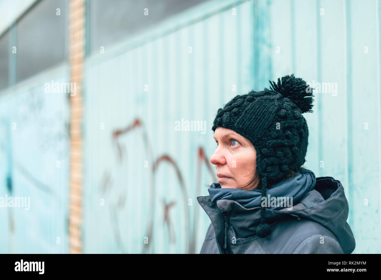
[[(265, 19), (256, 22), (253, 14), (255, 6), (267, 11), (268, 5), (228, 2), (209, 3), (208, 9), (199, 10), (202, 20), (190, 17), (189, 24), (180, 29), (171, 22), (176, 31), (158, 38), (150, 34), (155, 39), (130, 51), (108, 53), (103, 60), (101, 55), (88, 59), (86, 253), (199, 252), (210, 221), (196, 197), (208, 195), (204, 185), (215, 176), (209, 162), (214, 150), (211, 123), (223, 103), (259, 88), (252, 78), (253, 48), (263, 38), (256, 29), (262, 30)], [(267, 50), (261, 42), (256, 52), (258, 69), (266, 61), (263, 49)], [(269, 72), (258, 70), (257, 75), (261, 79)], [(232, 91), (235, 86), (237, 90)], [(128, 130), (135, 120), (141, 125), (112, 138), (115, 131)], [(175, 122), (182, 120), (205, 122), (206, 127), (176, 131)], [(104, 130), (99, 129), (100, 122), (105, 123)], [(122, 157), (116, 143), (122, 147)], [(199, 160), (199, 149), (205, 152), (208, 166)], [(102, 192), (105, 187), (107, 191)], [(119, 205), (117, 198), (122, 194), (127, 198)], [(102, 197), (107, 203), (98, 206)], [(144, 237), (149, 237), (148, 246)]]

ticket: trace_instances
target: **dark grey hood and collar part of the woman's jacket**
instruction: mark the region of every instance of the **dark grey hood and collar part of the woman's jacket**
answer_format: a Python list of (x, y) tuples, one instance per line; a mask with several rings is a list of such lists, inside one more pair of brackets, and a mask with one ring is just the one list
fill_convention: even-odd
[[(212, 203), (210, 196), (197, 197), (199, 204), (208, 214), (215, 227), (218, 219), (216, 211), (226, 211), (232, 225), (233, 236), (246, 238), (255, 234), (261, 219), (261, 206), (245, 208), (239, 202), (229, 199), (217, 200)], [(352, 253), (355, 239), (351, 227), (347, 223), (349, 205), (340, 181), (332, 177), (316, 178), (315, 186), (290, 208), (280, 210), (267, 208), (266, 222), (277, 223), (285, 216), (304, 218), (321, 224), (330, 230), (338, 240), (345, 254)], [(216, 232), (217, 235), (217, 232)], [(218, 239), (218, 238), (217, 238)]]

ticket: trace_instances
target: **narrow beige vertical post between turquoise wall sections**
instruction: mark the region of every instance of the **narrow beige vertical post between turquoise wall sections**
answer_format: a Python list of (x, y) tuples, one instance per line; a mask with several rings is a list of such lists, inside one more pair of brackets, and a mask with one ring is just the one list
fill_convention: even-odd
[(85, 0), (70, 0), (70, 211), (69, 253), (82, 253), (82, 74), (85, 54)]

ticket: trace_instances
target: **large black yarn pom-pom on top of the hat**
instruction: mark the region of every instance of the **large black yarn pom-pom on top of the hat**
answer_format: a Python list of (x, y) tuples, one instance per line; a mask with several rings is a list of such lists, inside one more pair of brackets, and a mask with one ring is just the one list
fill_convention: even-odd
[(270, 82), (270, 89), (290, 99), (302, 113), (313, 112), (312, 109), (312, 88), (301, 78), (295, 78), (294, 74), (278, 78), (278, 83)]

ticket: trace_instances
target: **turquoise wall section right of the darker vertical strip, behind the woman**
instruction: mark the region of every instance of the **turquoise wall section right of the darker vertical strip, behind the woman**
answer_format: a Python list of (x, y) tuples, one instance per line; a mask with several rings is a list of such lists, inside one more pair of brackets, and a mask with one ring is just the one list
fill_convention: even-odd
[(342, 182), (353, 253), (381, 251), (379, 8), (379, 1), (271, 5), (271, 42), (281, 50), (273, 52), (272, 77), (293, 72), (306, 82), (337, 83), (337, 93), (316, 93), (314, 113), (304, 114), (306, 166)]

